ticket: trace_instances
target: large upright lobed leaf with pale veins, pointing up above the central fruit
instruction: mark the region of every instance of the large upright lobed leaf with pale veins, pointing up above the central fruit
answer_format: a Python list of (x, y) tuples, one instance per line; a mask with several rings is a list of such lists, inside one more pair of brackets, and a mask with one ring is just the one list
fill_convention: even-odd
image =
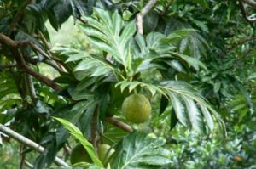
[(136, 25), (131, 21), (122, 27), (121, 16), (116, 11), (110, 14), (100, 8), (94, 9), (92, 17), (86, 17), (88, 24), (82, 25), (90, 42), (113, 56), (115, 61), (127, 68), (129, 57), (127, 43), (136, 32)]

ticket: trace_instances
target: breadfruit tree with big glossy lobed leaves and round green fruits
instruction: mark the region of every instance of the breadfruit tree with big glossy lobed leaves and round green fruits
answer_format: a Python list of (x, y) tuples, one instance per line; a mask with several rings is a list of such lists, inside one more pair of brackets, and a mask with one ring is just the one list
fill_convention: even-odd
[[(217, 35), (237, 39), (232, 14), (253, 27), (247, 13), (254, 2), (239, 4), (0, 1), (0, 136), (21, 142), (21, 166), (170, 168), (170, 149), (154, 123), (168, 122), (168, 131), (182, 125), (226, 134), (218, 114), (229, 97), (224, 79), (234, 82), (232, 93), (242, 84), (236, 76), (218, 76), (214, 56), (224, 55)], [(90, 47), (51, 47), (46, 21), (58, 31), (70, 16)], [(29, 161), (32, 149), (40, 154)]]

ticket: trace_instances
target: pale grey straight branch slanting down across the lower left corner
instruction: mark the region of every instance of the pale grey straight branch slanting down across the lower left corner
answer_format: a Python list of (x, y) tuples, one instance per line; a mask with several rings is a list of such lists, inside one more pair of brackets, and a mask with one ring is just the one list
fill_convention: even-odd
[[(20, 135), (19, 133), (11, 130), (9, 127), (5, 127), (2, 124), (0, 124), (0, 132), (3, 132), (9, 137), (14, 138), (15, 140), (19, 141), (21, 144), (25, 144), (28, 147), (31, 147), (32, 149), (37, 150), (40, 153), (44, 152), (44, 147), (40, 146), (39, 144), (33, 142), (32, 140), (25, 138), (24, 136)], [(55, 164), (58, 166), (67, 166), (68, 164), (65, 161), (62, 161), (59, 157), (55, 157)]]

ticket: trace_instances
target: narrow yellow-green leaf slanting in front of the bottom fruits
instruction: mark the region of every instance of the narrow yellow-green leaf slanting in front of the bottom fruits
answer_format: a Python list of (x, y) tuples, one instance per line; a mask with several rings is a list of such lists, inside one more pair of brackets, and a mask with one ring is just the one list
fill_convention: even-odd
[(75, 127), (71, 122), (65, 120), (65, 119), (61, 119), (61, 118), (57, 118), (57, 117), (53, 117), (55, 120), (61, 122), (61, 124), (67, 128), (67, 130), (73, 135), (73, 137), (77, 138), (79, 140), (79, 142), (81, 144), (83, 144), (84, 149), (86, 149), (86, 151), (88, 152), (88, 155), (90, 155), (91, 160), (97, 165), (102, 167), (102, 161), (100, 161), (97, 157), (96, 157), (96, 149), (94, 149), (93, 145), (90, 144), (90, 142), (88, 142), (82, 132), (79, 131), (78, 127)]

